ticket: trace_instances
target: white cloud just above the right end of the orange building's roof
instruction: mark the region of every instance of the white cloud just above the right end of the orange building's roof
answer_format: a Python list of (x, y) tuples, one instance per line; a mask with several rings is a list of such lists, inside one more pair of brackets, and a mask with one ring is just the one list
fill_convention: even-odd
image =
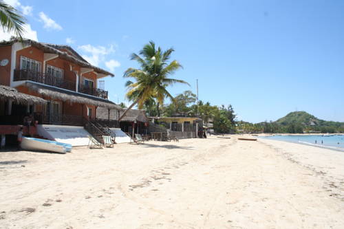
[(105, 56), (112, 52), (115, 52), (114, 45), (109, 45), (109, 47), (104, 46), (93, 46), (93, 45), (81, 45), (78, 50), (88, 53), (89, 55), (82, 55), (86, 61), (92, 65), (98, 66), (100, 62), (105, 60)]

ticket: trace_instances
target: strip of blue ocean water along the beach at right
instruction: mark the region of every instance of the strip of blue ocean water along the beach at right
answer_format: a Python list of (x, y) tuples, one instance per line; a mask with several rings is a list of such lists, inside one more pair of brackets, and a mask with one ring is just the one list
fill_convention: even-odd
[(261, 138), (310, 144), (313, 146), (344, 151), (344, 135), (271, 135)]

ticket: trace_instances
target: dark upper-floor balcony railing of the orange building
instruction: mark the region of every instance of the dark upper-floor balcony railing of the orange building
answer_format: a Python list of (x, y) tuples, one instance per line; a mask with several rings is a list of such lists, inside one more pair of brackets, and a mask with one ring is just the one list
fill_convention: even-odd
[[(50, 74), (43, 74), (42, 72), (34, 72), (25, 69), (14, 69), (13, 80), (31, 80), (37, 83), (43, 83), (45, 85), (76, 91), (76, 83), (71, 80), (65, 80), (63, 78), (51, 76)], [(79, 85), (78, 92), (105, 99), (108, 97), (107, 91), (98, 88), (85, 87), (85, 85)]]

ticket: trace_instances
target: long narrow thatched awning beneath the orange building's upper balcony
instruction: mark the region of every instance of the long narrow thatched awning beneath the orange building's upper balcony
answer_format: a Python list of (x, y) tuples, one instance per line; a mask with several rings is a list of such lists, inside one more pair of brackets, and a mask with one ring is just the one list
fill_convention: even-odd
[(38, 94), (41, 94), (43, 96), (47, 96), (52, 99), (63, 100), (65, 102), (84, 103), (98, 107), (106, 107), (107, 109), (122, 109), (122, 107), (105, 98), (89, 96), (87, 94), (81, 94), (76, 91), (69, 91), (67, 89), (43, 85), (41, 83), (25, 82), (25, 87), (28, 87), (29, 89), (36, 91)]

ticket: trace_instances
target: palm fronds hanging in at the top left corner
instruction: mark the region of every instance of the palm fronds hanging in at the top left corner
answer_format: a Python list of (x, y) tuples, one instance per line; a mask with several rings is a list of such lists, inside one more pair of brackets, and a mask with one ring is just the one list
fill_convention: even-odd
[(25, 18), (21, 15), (21, 12), (0, 0), (0, 26), (3, 31), (14, 31), (22, 39), (23, 32), (25, 31), (23, 28), (24, 24)]

